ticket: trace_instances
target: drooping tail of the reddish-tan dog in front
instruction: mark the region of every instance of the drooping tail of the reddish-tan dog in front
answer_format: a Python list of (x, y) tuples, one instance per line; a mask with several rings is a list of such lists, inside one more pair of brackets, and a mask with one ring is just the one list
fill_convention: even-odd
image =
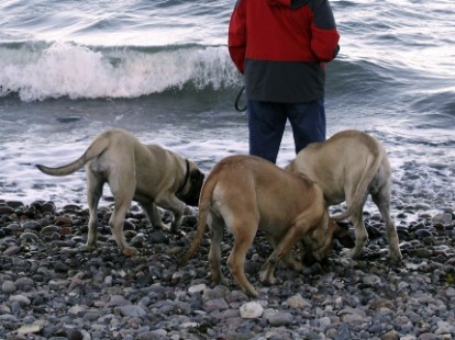
[(210, 201), (212, 197), (214, 185), (215, 181), (210, 181), (210, 177), (202, 185), (201, 195), (199, 199), (198, 227), (196, 230), (196, 236), (188, 251), (185, 253), (185, 256), (181, 257), (179, 261), (179, 267), (184, 267), (188, 263), (189, 259), (196, 253), (196, 251), (199, 248), (199, 245), (202, 241), (207, 228), (207, 220), (210, 211)]

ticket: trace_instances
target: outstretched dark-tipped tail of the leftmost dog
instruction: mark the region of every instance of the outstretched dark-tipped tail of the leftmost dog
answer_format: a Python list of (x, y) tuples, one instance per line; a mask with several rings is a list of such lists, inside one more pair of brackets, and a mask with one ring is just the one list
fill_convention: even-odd
[(77, 170), (81, 169), (89, 160), (98, 157), (101, 155), (109, 146), (109, 140), (107, 138), (98, 138), (95, 140), (88, 149), (80, 156), (78, 159), (71, 161), (68, 165), (58, 167), (58, 168), (51, 168), (43, 165), (35, 165), (40, 171), (51, 174), (51, 175), (67, 175), (76, 172)]

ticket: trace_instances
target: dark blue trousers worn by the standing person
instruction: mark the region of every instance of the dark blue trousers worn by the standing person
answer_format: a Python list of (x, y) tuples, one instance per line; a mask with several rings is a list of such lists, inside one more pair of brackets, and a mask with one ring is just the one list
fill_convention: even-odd
[(276, 162), (286, 122), (292, 127), (296, 154), (307, 145), (325, 140), (324, 100), (301, 104), (248, 100), (249, 155)]

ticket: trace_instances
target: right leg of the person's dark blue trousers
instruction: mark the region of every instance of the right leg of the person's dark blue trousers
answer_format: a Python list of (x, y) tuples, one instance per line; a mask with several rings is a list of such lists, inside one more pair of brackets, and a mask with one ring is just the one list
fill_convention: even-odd
[(324, 100), (310, 103), (287, 104), (289, 122), (292, 126), (296, 154), (307, 145), (325, 140)]

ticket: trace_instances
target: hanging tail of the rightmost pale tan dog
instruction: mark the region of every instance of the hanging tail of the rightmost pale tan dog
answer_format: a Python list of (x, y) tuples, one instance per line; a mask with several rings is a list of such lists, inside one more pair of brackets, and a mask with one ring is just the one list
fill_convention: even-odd
[[(377, 147), (370, 148), (373, 156), (367, 157), (366, 159), (366, 171), (362, 174), (360, 180), (357, 183), (357, 188), (355, 189), (354, 195), (351, 200), (351, 204), (348, 204), (346, 211), (343, 213), (336, 214), (331, 216), (334, 220), (343, 220), (349, 217), (354, 212), (360, 208), (360, 204), (364, 203), (366, 195), (368, 195), (368, 185), (371, 183), (373, 178), (377, 174), (380, 165), (382, 163), (381, 157), (381, 146), (378, 141), (375, 141)], [(385, 155), (385, 151), (384, 151)]]

